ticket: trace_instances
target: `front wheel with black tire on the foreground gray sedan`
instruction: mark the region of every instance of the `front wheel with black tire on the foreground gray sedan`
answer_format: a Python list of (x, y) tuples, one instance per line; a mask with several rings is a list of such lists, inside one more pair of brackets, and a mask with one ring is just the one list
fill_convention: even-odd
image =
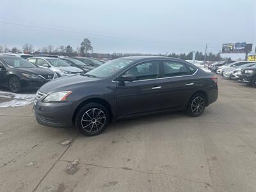
[(108, 109), (96, 102), (88, 103), (81, 108), (75, 120), (77, 130), (85, 136), (100, 134), (106, 129), (108, 123)]

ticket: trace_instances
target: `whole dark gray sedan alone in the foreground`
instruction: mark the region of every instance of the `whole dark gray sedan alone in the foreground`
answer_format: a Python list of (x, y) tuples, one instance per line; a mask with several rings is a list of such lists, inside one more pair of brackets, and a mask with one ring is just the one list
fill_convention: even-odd
[(82, 134), (93, 136), (111, 120), (166, 111), (200, 116), (217, 97), (217, 77), (209, 72), (175, 58), (132, 56), (45, 84), (33, 108), (40, 124), (74, 122)]

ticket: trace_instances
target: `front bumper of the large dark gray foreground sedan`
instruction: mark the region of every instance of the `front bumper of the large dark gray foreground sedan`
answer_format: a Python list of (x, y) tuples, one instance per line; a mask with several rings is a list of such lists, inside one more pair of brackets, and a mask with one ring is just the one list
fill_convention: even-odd
[(74, 111), (70, 102), (45, 103), (34, 100), (33, 109), (38, 124), (50, 127), (70, 127)]

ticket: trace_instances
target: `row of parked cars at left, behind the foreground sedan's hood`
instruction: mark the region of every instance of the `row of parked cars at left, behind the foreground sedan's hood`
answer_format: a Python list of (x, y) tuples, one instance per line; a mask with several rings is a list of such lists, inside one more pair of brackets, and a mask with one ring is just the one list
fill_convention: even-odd
[(0, 54), (0, 86), (18, 93), (24, 88), (40, 88), (63, 76), (84, 74), (102, 65), (100, 61), (83, 57), (29, 57)]

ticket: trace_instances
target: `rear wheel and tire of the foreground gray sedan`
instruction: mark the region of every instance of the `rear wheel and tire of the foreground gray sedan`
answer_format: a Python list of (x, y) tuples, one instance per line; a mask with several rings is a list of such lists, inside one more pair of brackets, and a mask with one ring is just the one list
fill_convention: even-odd
[(186, 114), (189, 116), (200, 116), (204, 113), (205, 109), (205, 97), (200, 93), (196, 93), (189, 100), (188, 107), (186, 109)]

